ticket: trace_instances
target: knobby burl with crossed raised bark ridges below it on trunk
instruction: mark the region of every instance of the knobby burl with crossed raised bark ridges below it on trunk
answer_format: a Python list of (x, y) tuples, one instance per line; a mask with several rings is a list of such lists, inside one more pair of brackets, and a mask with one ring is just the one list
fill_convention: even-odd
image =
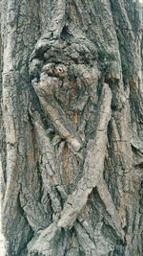
[(74, 228), (86, 255), (95, 255), (88, 216), (88, 198), (95, 187), (105, 204), (105, 218), (110, 219), (118, 239), (124, 240), (103, 178), (111, 89), (101, 78), (92, 42), (84, 35), (74, 37), (66, 27), (60, 36), (51, 34), (39, 40), (31, 55), (30, 74), (42, 109), (40, 115), (36, 106), (31, 106), (31, 120), (40, 145), (42, 182), (51, 198), (53, 214), (51, 221), (45, 221), (45, 229), (39, 224), (37, 230), (31, 223), (38, 237), (29, 251), (31, 255), (43, 251), (51, 255), (52, 242), (60, 237), (62, 228), (67, 233)]

